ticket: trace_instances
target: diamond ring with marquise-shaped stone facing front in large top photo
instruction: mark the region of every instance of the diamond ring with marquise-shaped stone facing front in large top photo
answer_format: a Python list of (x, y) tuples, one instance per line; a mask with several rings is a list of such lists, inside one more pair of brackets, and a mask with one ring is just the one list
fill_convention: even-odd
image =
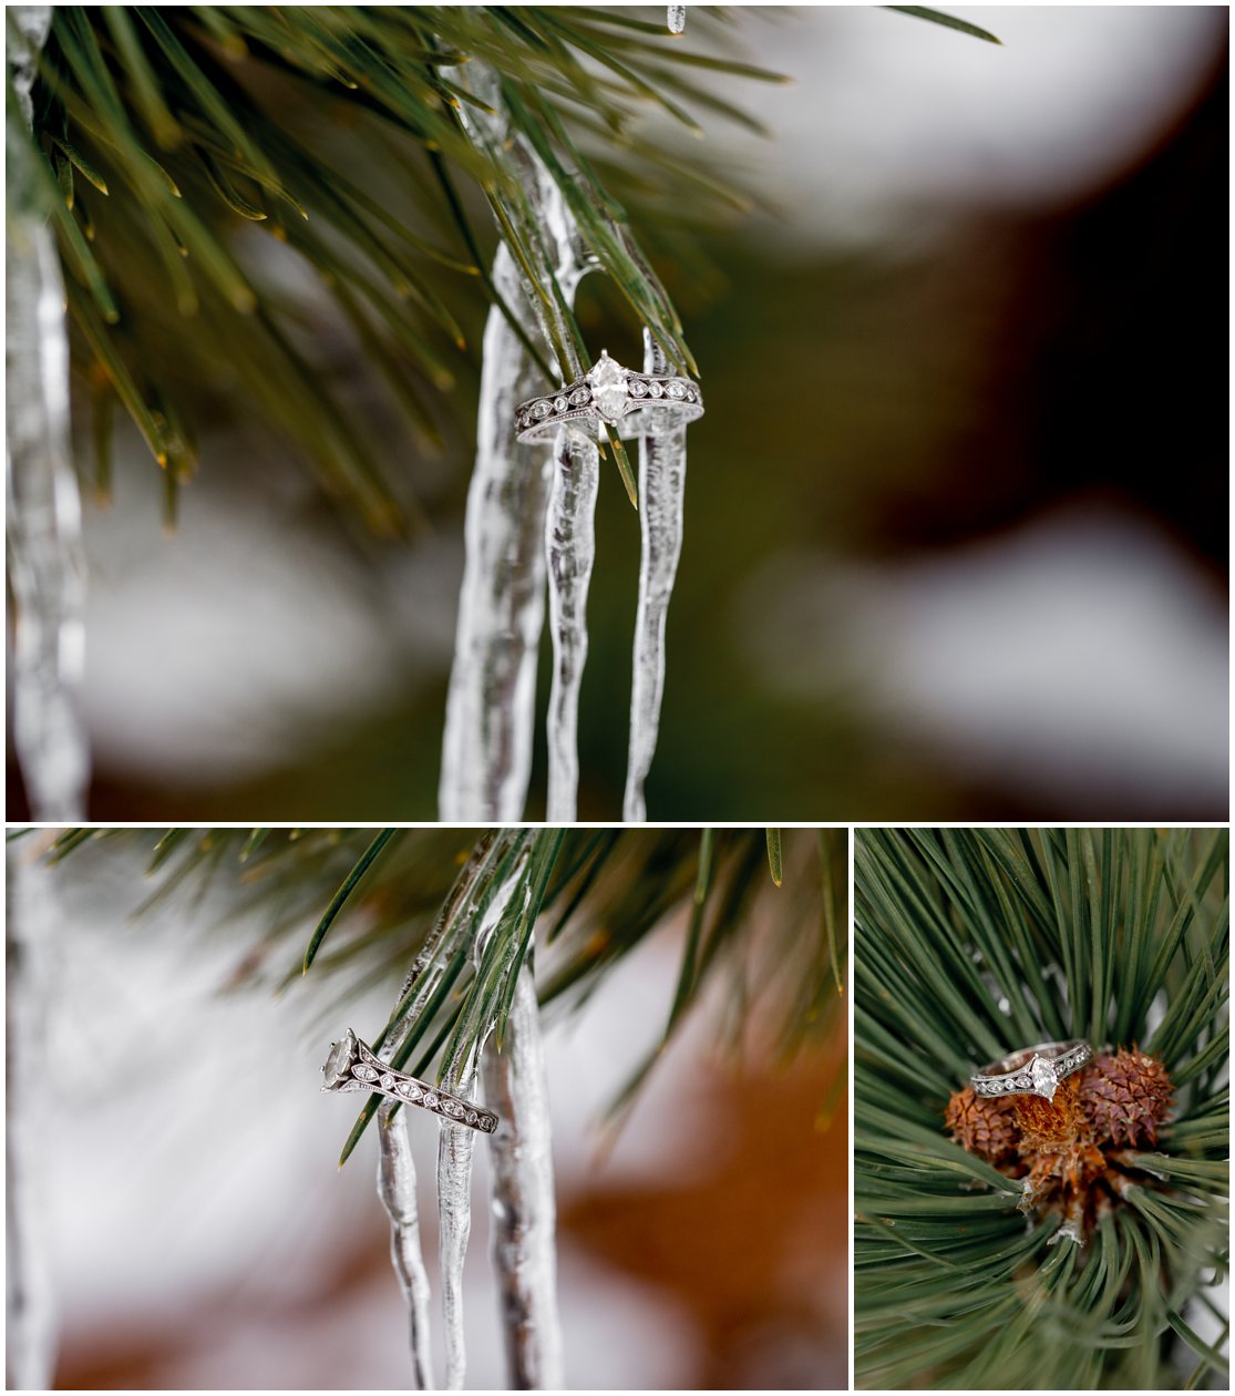
[(617, 427), (624, 437), (657, 436), (670, 417), (684, 426), (703, 416), (703, 395), (694, 378), (636, 373), (608, 350), (575, 383), (515, 409), (519, 441), (551, 441), (564, 422), (586, 420)]

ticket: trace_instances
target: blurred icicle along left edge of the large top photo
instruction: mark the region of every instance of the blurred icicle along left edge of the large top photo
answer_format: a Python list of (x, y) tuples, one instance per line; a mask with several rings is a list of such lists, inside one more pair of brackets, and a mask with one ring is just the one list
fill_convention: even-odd
[[(14, 6), (8, 67), (27, 123), (35, 54), (52, 8)], [(33, 186), (35, 159), (7, 128), (7, 517), (13, 597), (13, 741), (36, 819), (84, 818), (89, 752), (78, 715), (85, 561), (68, 422), (68, 335), (56, 239)]]

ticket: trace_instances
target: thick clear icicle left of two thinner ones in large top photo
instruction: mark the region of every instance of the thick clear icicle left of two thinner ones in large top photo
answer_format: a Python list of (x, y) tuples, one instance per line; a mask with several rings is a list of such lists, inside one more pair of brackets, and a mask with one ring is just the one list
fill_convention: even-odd
[[(544, 271), (572, 304), (589, 262), (557, 184), (523, 137), (509, 130), (493, 70), (473, 61), (449, 71), (491, 109), (466, 107), (462, 119), (474, 140), (501, 148), (518, 170), (551, 258)], [(504, 242), (493, 283), (527, 332), (537, 336), (539, 329), (547, 350), (540, 302), (529, 296)], [(565, 334), (558, 339), (571, 342)], [(576, 362), (565, 367), (578, 377)], [(512, 426), (518, 403), (544, 387), (532, 355), (494, 306), (484, 327), (476, 463), (463, 525), (466, 561), (438, 786), (442, 819), (515, 821), (527, 797), (550, 477), (544, 450), (519, 445)]]

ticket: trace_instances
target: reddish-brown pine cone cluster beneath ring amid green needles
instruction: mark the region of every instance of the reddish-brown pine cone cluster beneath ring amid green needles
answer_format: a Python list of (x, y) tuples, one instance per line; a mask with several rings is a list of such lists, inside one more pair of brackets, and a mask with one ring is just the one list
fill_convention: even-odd
[(1171, 1106), (1171, 1078), (1154, 1057), (1121, 1047), (1065, 1078), (1054, 1100), (988, 1099), (973, 1086), (948, 1101), (952, 1138), (1024, 1182), (1024, 1210), (1062, 1212), (1084, 1233), (1136, 1177), (1133, 1149), (1153, 1148)]

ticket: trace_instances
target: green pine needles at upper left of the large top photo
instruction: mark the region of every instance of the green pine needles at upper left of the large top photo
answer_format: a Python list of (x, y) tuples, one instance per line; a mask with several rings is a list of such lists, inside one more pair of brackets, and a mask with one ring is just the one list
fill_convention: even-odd
[[(469, 353), (467, 307), (477, 289), (493, 296), (454, 184), (483, 193), (516, 257), (537, 261), (522, 172), (462, 119), (484, 106), (456, 77), (470, 61), (501, 74), (512, 130), (553, 172), (631, 313), (694, 364), (624, 208), (643, 207), (649, 181), (680, 193), (682, 172), (631, 133), (652, 105), (694, 130), (689, 109), (714, 107), (717, 75), (773, 74), (594, 8), (56, 7), (35, 89), (38, 198), (56, 219), (96, 412), (105, 424), (119, 402), (138, 424), (167, 472), (169, 510), (197, 468), (201, 385), (243, 385), (325, 489), (382, 532), (407, 525), (414, 501), (301, 348), (276, 289), (282, 258), (262, 239), (315, 272), (431, 448)], [(702, 163), (698, 174), (692, 198), (712, 202), (716, 181)]]

